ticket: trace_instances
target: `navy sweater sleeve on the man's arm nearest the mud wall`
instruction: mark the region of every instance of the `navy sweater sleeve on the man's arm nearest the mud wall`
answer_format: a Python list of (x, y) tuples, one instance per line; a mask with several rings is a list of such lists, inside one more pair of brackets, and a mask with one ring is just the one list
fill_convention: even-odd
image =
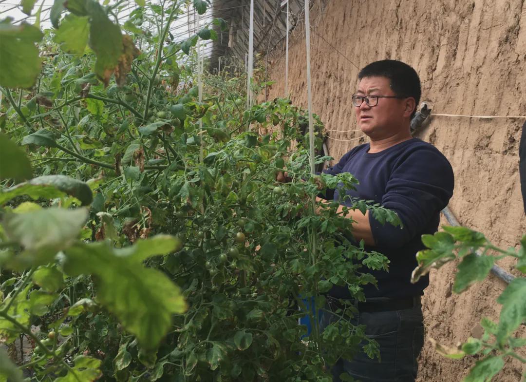
[(393, 169), (381, 201), (383, 207), (398, 214), (403, 227), (381, 225), (370, 214), (376, 245), (399, 248), (419, 235), (430, 219), (448, 205), (453, 186), (453, 169), (438, 150), (418, 149), (404, 157)]

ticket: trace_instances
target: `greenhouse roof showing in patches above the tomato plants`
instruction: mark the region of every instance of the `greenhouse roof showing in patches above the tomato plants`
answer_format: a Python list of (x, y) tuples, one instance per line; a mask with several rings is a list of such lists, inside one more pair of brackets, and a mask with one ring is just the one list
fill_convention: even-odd
[[(216, 42), (204, 43), (205, 57), (209, 57), (210, 70), (218, 68), (220, 57), (227, 62), (243, 63), (248, 53), (250, 0), (210, 0), (211, 7), (201, 15), (201, 25), (210, 23), (213, 18), (221, 17), (228, 24), (225, 32), (218, 31)], [(289, 1), (289, 29), (292, 29), (304, 13), (304, 0)], [(311, 0), (312, 1), (312, 0)], [(35, 23), (35, 14), (42, 7), (40, 23), (43, 29), (52, 28), (50, 10), (54, 0), (37, 0), (31, 15), (22, 12), (18, 0), (0, 0), (0, 19), (12, 17), (15, 23)], [(116, 3), (114, 0), (109, 4)], [(159, 3), (148, 2), (148, 4)], [(135, 1), (127, 2), (116, 9), (117, 17), (126, 20), (136, 8)], [(186, 7), (186, 6), (185, 6)], [(153, 27), (153, 26), (152, 26)], [(195, 33), (196, 13), (189, 6), (172, 24), (170, 33), (175, 41), (183, 41)], [(254, 53), (266, 54), (277, 46), (287, 33), (287, 0), (254, 0)]]

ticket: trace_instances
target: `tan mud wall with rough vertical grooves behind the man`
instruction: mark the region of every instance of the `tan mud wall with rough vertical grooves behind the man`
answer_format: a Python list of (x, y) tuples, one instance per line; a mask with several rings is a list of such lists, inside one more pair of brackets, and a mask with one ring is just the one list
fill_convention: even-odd
[[(349, 131), (357, 129), (351, 94), (358, 68), (378, 59), (400, 59), (413, 66), (421, 78), (422, 100), (435, 113), (526, 115), (524, 0), (317, 0), (311, 19), (313, 110), (330, 130), (329, 151), (336, 159), (367, 142), (361, 132)], [(304, 36), (301, 26), (291, 35), (289, 93), (294, 103), (306, 107)], [(270, 61), (276, 84), (268, 97), (283, 96), (285, 47), (279, 46)], [(432, 117), (419, 135), (453, 166), (456, 187), (450, 208), (460, 223), (502, 247), (518, 245), (526, 233), (518, 173), (523, 122)], [(515, 273), (511, 261), (500, 265)], [(445, 345), (479, 335), (482, 316), (497, 319), (495, 298), (505, 287), (491, 276), (454, 295), (455, 267), (432, 272), (424, 297), (426, 335)], [(420, 358), (419, 381), (426, 382), (460, 381), (476, 361), (442, 358), (429, 341)], [(521, 374), (522, 365), (509, 361), (493, 380), (518, 381)]]

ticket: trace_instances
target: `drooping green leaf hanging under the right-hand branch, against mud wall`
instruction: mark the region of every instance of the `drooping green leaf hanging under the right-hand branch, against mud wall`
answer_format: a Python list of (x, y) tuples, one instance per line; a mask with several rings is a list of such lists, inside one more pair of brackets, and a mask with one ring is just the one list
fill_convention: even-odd
[(454, 293), (462, 293), (471, 284), (482, 281), (488, 276), (494, 263), (493, 256), (478, 256), (474, 253), (464, 256), (457, 267), (458, 272), (453, 284)]

